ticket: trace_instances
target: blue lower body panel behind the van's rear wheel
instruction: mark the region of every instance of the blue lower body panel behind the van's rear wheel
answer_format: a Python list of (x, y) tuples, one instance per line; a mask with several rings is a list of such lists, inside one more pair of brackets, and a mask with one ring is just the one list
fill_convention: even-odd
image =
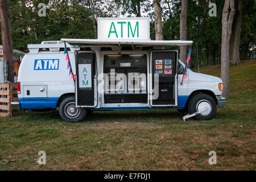
[(27, 98), (18, 98), (21, 109), (55, 109), (58, 100), (59, 97), (30, 97), (29, 100)]

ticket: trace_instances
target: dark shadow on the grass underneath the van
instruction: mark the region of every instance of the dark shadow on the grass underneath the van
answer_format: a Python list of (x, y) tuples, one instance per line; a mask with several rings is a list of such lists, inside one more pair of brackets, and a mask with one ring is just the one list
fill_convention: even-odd
[[(86, 115), (83, 122), (152, 122), (152, 121), (182, 121), (186, 113), (179, 113), (176, 110), (118, 110), (118, 111), (93, 111)], [(20, 114), (15, 117), (27, 122), (63, 122), (58, 111), (34, 112)]]

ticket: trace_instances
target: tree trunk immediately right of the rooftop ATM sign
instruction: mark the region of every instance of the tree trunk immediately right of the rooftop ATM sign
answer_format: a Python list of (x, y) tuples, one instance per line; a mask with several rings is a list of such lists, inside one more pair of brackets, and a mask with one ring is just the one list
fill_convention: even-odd
[(163, 40), (163, 25), (162, 25), (162, 8), (160, 3), (154, 1), (154, 14), (155, 14), (155, 40)]

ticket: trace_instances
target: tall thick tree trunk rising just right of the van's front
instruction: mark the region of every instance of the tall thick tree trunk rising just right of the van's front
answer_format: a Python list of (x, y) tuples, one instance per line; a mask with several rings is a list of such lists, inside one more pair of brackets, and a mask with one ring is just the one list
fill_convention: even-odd
[(229, 44), (235, 13), (234, 0), (225, 0), (222, 11), (221, 79), (223, 82), (222, 96), (226, 98), (229, 98)]

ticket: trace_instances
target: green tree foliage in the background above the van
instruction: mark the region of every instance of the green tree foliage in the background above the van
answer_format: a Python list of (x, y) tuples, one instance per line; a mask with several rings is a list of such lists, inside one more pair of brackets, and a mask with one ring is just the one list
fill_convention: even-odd
[[(160, 0), (159, 0), (160, 1)], [(191, 65), (196, 63), (196, 44), (200, 65), (220, 64), (221, 18), (224, 0), (216, 3), (217, 16), (208, 15), (207, 1), (188, 1), (188, 40), (193, 40)], [(39, 3), (46, 4), (46, 16), (38, 16)], [(61, 38), (96, 39), (93, 18), (142, 16), (151, 18), (150, 36), (155, 39), (154, 7), (147, 0), (10, 0), (11, 35), (13, 48), (27, 50), (27, 44)], [(138, 7), (139, 4), (139, 7)], [(180, 0), (162, 0), (163, 35), (165, 40), (179, 40)], [(207, 11), (205, 11), (207, 9)], [(205, 14), (205, 12), (207, 12)], [(246, 56), (255, 49), (255, 0), (243, 1), (240, 55)], [(1, 44), (2, 40), (0, 40)]]

